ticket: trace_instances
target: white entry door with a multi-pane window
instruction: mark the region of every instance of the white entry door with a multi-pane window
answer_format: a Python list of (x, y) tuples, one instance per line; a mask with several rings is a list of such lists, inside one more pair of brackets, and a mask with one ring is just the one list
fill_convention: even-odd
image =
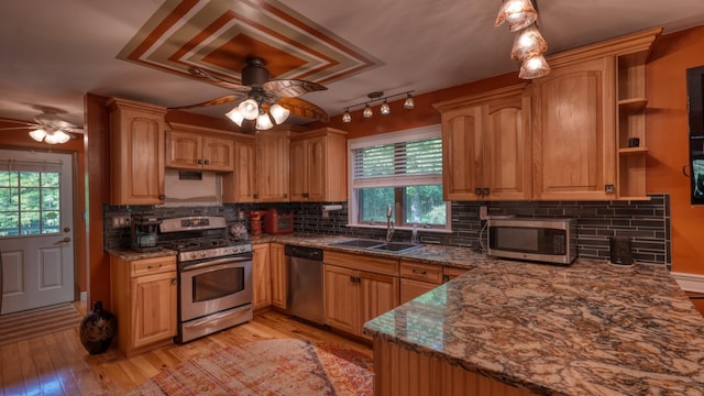
[(73, 157), (0, 150), (2, 312), (74, 300)]

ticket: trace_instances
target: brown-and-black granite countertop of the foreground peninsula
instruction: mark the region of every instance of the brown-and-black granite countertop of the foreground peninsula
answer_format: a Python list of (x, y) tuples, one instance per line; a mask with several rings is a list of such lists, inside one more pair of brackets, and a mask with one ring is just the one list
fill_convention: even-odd
[(488, 261), (364, 327), (540, 395), (704, 394), (704, 319), (659, 265)]

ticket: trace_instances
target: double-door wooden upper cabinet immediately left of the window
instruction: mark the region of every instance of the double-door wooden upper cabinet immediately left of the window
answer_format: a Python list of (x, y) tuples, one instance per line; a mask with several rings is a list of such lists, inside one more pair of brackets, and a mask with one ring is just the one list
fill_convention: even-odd
[(346, 132), (322, 128), (290, 135), (290, 200), (346, 200)]

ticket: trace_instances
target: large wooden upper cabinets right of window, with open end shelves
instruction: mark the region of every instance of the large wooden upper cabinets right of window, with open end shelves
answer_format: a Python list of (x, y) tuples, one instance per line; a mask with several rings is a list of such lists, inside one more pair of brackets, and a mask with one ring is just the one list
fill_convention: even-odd
[(551, 55), (528, 87), (436, 103), (444, 199), (648, 199), (645, 65), (661, 31)]

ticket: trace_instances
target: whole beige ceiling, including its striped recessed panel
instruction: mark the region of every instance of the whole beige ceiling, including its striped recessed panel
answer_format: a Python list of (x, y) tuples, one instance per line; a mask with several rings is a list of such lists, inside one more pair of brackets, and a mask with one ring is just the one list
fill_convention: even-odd
[[(372, 91), (429, 92), (517, 72), (499, 0), (6, 0), (0, 117), (53, 107), (82, 124), (86, 92), (165, 107), (232, 94), (248, 56), (272, 78), (328, 87), (301, 97), (339, 117)], [(704, 0), (538, 0), (548, 53), (663, 25), (704, 24)], [(233, 103), (194, 112), (223, 117)], [(305, 120), (298, 120), (305, 121)], [(0, 135), (1, 140), (1, 135)]]

